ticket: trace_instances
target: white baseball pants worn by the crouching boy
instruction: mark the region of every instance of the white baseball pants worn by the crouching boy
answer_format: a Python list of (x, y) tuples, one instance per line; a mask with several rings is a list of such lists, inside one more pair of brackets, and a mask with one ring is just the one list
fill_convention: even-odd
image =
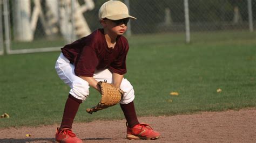
[[(73, 97), (85, 101), (89, 95), (89, 83), (75, 75), (75, 66), (72, 65), (62, 53), (60, 53), (56, 61), (55, 69), (60, 79), (71, 88), (69, 93)], [(112, 73), (109, 69), (96, 71), (95, 74), (93, 74), (93, 78), (98, 82), (106, 80), (107, 83), (112, 83)], [(123, 78), (120, 89), (125, 92), (120, 104), (132, 102), (134, 99), (134, 90), (131, 83), (126, 80), (126, 78)]]

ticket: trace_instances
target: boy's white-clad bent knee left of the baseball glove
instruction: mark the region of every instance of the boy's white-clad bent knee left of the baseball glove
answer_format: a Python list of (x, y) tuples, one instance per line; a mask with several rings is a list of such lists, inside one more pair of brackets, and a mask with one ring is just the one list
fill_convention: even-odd
[(89, 95), (89, 83), (83, 79), (73, 81), (72, 88), (69, 92), (73, 97), (85, 101)]

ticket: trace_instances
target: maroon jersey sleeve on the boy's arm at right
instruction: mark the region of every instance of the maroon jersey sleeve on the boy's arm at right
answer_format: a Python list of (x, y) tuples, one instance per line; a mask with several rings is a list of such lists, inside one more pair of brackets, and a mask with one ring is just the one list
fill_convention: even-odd
[(108, 69), (110, 71), (112, 71), (113, 73), (117, 73), (117, 74), (120, 74), (120, 75), (126, 74), (126, 72), (127, 72), (127, 70), (126, 70), (126, 56), (127, 56), (128, 51), (129, 51), (129, 45), (128, 45), (128, 42), (126, 42), (126, 44), (124, 45), (123, 51), (120, 52), (117, 59), (114, 60), (110, 64)]

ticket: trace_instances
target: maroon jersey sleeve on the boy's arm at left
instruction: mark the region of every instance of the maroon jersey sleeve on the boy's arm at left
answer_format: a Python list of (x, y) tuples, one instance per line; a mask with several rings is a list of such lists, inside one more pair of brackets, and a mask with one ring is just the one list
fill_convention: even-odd
[(84, 47), (79, 53), (75, 63), (75, 74), (78, 76), (92, 77), (98, 65), (98, 57), (96, 51), (92, 47)]

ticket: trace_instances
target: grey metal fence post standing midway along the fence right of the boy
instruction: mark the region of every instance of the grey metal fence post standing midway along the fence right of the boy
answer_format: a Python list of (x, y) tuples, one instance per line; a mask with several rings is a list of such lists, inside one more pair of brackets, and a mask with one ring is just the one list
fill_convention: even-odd
[(188, 0), (184, 0), (186, 42), (190, 42), (190, 16), (188, 12)]

